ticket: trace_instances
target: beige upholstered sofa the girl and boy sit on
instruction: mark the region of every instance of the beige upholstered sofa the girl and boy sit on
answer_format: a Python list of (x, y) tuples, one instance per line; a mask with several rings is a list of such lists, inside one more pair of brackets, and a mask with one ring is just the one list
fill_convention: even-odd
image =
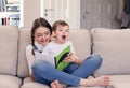
[[(130, 88), (130, 29), (70, 29), (69, 40), (84, 60), (95, 53), (103, 58), (95, 76), (109, 75), (116, 88)], [(0, 26), (0, 88), (49, 88), (29, 77), (25, 48), (30, 44), (30, 28)], [(112, 88), (112, 87), (68, 87)]]

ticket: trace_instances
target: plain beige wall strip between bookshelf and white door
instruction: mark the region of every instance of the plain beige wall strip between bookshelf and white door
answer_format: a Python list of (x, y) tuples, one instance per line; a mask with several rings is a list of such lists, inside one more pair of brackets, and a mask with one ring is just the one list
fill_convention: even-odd
[(23, 0), (23, 25), (31, 27), (32, 21), (40, 17), (40, 0)]

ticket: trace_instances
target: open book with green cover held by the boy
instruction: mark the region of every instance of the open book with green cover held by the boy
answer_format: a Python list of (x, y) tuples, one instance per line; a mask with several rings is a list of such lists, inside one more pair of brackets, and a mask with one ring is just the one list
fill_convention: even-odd
[(43, 55), (41, 53), (36, 53), (36, 59), (42, 59), (48, 63), (54, 65), (57, 70), (63, 71), (69, 64), (64, 60), (69, 52), (70, 45), (64, 48), (56, 57), (51, 55)]

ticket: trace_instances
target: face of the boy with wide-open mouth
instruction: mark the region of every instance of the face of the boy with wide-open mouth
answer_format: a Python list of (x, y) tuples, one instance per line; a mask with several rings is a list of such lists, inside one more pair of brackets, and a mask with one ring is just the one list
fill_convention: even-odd
[(58, 26), (55, 31), (53, 31), (55, 41), (60, 44), (65, 43), (68, 40), (69, 27), (68, 26)]

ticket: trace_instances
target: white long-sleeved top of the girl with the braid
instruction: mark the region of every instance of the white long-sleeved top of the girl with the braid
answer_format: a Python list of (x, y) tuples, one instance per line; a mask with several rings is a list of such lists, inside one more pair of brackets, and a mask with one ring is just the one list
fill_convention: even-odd
[[(38, 50), (42, 50), (44, 47), (43, 45), (38, 44), (37, 42), (35, 42), (35, 45), (37, 46)], [(31, 44), (26, 47), (26, 58), (29, 67), (29, 73), (31, 73), (31, 65), (32, 65), (32, 62), (36, 60), (35, 55), (32, 55), (32, 49), (34, 47)], [(37, 50), (35, 50), (35, 54)]]

